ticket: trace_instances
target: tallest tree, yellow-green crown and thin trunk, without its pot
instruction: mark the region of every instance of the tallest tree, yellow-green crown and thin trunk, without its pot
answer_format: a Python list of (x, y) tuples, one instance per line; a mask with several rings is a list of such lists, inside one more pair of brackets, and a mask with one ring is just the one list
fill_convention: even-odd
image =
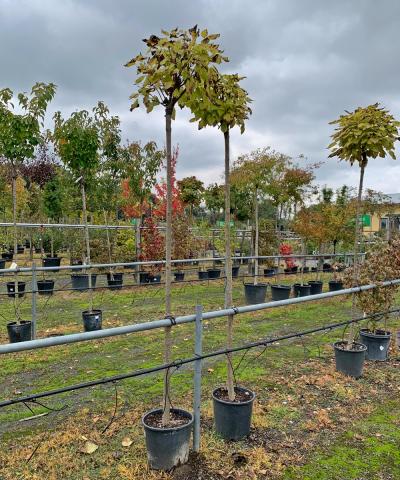
[[(165, 241), (165, 310), (171, 315), (171, 253), (172, 253), (172, 120), (176, 107), (184, 108), (192, 98), (203, 93), (204, 85), (217, 72), (215, 65), (226, 61), (219, 46), (214, 43), (218, 34), (209, 34), (197, 25), (190, 30), (162, 31), (162, 36), (151, 35), (144, 39), (147, 51), (126, 63), (127, 67), (136, 67), (137, 90), (131, 95), (131, 110), (139, 107), (142, 99), (147, 112), (162, 106), (165, 111), (165, 137), (167, 156), (167, 212)], [(172, 350), (171, 328), (165, 330), (166, 363), (170, 362)], [(169, 372), (166, 370), (164, 381), (163, 425), (170, 420)]]

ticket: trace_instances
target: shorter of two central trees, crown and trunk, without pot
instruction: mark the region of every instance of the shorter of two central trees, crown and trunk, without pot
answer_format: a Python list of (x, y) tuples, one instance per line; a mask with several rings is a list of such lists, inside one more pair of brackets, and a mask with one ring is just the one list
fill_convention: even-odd
[[(243, 77), (237, 74), (215, 76), (206, 86), (203, 95), (192, 98), (191, 121), (198, 121), (199, 129), (217, 126), (224, 135), (225, 146), (225, 308), (232, 306), (232, 253), (231, 253), (231, 184), (230, 184), (230, 130), (235, 126), (243, 133), (245, 121), (251, 115), (251, 102), (246, 90), (240, 86)], [(227, 348), (232, 347), (233, 315), (228, 316)], [(231, 401), (235, 399), (231, 354), (227, 355), (227, 389)]]

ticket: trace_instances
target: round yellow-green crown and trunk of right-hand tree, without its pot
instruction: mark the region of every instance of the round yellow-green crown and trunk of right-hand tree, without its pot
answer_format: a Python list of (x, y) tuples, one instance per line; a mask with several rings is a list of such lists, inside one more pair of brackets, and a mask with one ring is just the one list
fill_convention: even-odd
[[(346, 115), (341, 115), (330, 124), (336, 125), (336, 128), (328, 147), (331, 150), (329, 158), (338, 157), (340, 160), (350, 162), (350, 165), (358, 163), (360, 167), (354, 240), (354, 283), (357, 284), (360, 213), (365, 168), (370, 158), (385, 158), (389, 155), (396, 159), (394, 144), (399, 138), (400, 122), (396, 121), (388, 110), (375, 103), (368, 107), (359, 107), (354, 112), (346, 112)], [(353, 295), (353, 307), (354, 301)], [(354, 343), (354, 325), (352, 324), (349, 329), (349, 349)]]

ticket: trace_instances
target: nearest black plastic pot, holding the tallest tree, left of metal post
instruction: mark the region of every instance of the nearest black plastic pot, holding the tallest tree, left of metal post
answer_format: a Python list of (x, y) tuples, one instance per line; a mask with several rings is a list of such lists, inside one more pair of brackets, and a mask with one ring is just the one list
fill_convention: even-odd
[(155, 413), (161, 414), (161, 412), (161, 409), (151, 410), (142, 418), (146, 437), (147, 458), (151, 468), (155, 470), (171, 470), (171, 468), (188, 461), (193, 415), (185, 410), (171, 408), (171, 412), (187, 418), (188, 423), (170, 428), (157, 428), (146, 423), (150, 415)]

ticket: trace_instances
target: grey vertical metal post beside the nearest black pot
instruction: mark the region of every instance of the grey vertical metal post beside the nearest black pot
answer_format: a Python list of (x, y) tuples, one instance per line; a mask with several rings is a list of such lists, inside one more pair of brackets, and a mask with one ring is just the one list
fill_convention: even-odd
[[(195, 356), (201, 356), (203, 352), (203, 307), (196, 305), (196, 330), (195, 330)], [(193, 398), (193, 450), (200, 450), (200, 406), (201, 406), (201, 359), (194, 364), (194, 398)]]

